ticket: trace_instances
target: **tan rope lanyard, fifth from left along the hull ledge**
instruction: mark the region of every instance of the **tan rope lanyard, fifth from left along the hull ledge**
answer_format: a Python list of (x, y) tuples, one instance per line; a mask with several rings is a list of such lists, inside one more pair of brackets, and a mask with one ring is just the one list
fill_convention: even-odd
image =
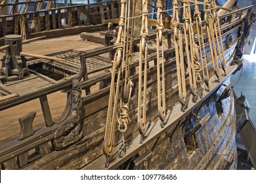
[(174, 7), (174, 45), (175, 45), (175, 59), (177, 67), (177, 80), (178, 80), (178, 90), (179, 90), (179, 101), (181, 103), (181, 110), (185, 111), (186, 105), (186, 82), (185, 82), (185, 69), (183, 60), (183, 42), (182, 34), (179, 28), (179, 6), (177, 0), (173, 1)]

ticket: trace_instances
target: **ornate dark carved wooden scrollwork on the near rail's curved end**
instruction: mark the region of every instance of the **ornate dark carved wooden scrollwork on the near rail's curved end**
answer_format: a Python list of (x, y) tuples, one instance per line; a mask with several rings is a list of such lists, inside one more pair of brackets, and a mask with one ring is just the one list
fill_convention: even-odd
[[(70, 101), (70, 102), (69, 102)], [(82, 107), (81, 86), (79, 80), (73, 80), (72, 89), (67, 98), (67, 105), (70, 105), (69, 114), (60, 118), (58, 126), (54, 129), (54, 147), (56, 150), (63, 148), (82, 139), (82, 126), (84, 108)]]

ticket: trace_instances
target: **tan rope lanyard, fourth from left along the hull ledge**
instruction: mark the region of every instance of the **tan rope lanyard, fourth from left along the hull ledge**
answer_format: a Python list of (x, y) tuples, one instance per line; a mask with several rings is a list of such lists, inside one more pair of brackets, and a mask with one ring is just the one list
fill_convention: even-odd
[[(158, 101), (158, 117), (163, 127), (164, 118), (166, 116), (166, 91), (165, 91), (165, 72), (164, 72), (164, 37), (162, 31), (164, 24), (162, 22), (162, 3), (157, 2), (157, 20), (156, 20), (156, 66), (157, 66), (157, 101)], [(161, 48), (161, 50), (160, 50)], [(161, 56), (160, 56), (161, 52)], [(160, 60), (161, 57), (161, 60)], [(162, 62), (162, 96), (161, 96), (161, 78), (160, 78), (160, 61)]]

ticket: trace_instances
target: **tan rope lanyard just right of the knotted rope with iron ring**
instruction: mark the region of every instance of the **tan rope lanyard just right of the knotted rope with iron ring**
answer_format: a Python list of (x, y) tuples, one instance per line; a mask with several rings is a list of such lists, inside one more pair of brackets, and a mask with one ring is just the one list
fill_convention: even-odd
[[(147, 118), (147, 37), (149, 36), (149, 30), (147, 28), (147, 14), (149, 12), (148, 0), (142, 1), (142, 20), (141, 20), (141, 30), (140, 30), (140, 45), (139, 45), (139, 86), (138, 86), (138, 102), (137, 102), (137, 126), (139, 133), (141, 135), (141, 143), (143, 142), (143, 135), (145, 133), (145, 124)], [(144, 56), (144, 78), (143, 78), (143, 111), (141, 111), (141, 98), (142, 98), (142, 57)], [(141, 118), (142, 114), (142, 118)]]

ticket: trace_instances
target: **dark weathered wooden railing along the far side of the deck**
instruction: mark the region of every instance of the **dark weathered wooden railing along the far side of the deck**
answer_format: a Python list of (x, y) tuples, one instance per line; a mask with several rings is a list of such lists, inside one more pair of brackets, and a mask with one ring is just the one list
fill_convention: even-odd
[[(118, 0), (50, 8), (0, 16), (0, 37), (9, 34), (37, 33), (67, 27), (101, 24), (118, 16)], [(43, 1), (42, 1), (43, 2)], [(13, 6), (16, 6), (14, 3)], [(90, 7), (90, 8), (89, 8)]]

